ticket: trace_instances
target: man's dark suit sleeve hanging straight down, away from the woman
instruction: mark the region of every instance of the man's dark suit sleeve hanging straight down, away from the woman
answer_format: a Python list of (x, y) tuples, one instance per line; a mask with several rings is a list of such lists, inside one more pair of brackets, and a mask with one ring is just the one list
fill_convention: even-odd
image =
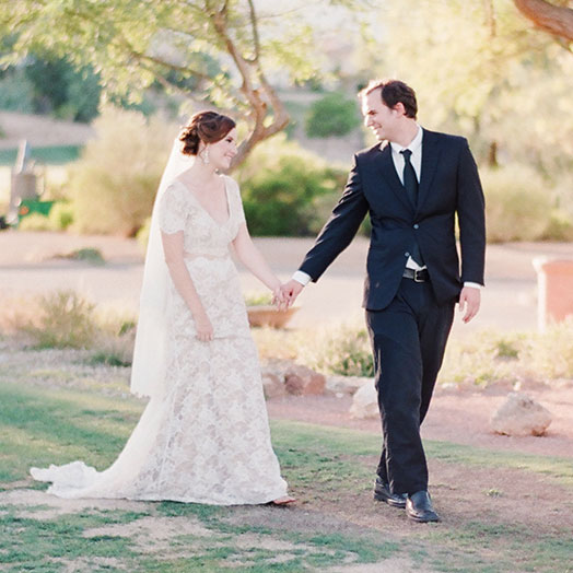
[(457, 175), (457, 214), (461, 248), (461, 282), (483, 284), (486, 259), (484, 198), (478, 167), (464, 140)]

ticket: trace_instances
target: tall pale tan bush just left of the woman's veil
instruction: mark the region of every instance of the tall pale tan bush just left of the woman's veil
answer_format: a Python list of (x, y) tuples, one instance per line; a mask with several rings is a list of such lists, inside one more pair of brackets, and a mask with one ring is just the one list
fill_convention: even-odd
[(107, 107), (70, 173), (73, 229), (135, 236), (150, 215), (176, 129), (163, 118)]

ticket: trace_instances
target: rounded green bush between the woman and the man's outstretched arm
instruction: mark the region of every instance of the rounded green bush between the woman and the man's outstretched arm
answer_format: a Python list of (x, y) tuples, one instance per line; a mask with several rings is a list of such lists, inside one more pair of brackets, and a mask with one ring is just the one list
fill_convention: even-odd
[(323, 226), (347, 173), (281, 133), (257, 147), (236, 177), (254, 235), (308, 236)]

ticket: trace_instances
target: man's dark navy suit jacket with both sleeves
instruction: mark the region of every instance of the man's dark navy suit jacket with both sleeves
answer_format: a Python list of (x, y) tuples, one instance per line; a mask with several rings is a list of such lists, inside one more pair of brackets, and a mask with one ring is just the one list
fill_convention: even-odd
[(465, 138), (423, 130), (417, 206), (398, 178), (389, 144), (356, 153), (344, 192), (300, 270), (317, 281), (350, 244), (366, 213), (372, 223), (363, 303), (367, 309), (379, 311), (391, 302), (413, 241), (438, 304), (457, 300), (463, 282), (483, 284), (483, 192)]

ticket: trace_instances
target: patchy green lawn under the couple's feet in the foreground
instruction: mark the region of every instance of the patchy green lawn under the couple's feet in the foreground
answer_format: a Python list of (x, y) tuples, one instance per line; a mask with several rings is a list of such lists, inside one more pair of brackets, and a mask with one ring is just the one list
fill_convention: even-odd
[[(523, 499), (518, 503), (533, 506), (530, 521), (513, 523), (502, 515), (511, 481), (500, 492), (484, 482), (483, 502), (492, 510), (476, 514), (456, 514), (446, 501), (457, 495), (456, 503), (463, 503), (464, 491), (448, 493), (436, 483), (436, 498), (448, 510), (444, 523), (409, 524), (404, 512), (372, 501), (378, 436), (289, 421), (271, 428), (283, 475), (299, 498), (294, 507), (119, 501), (112, 508), (95, 504), (81, 511), (62, 504), (46, 517), (56, 499), (32, 491), (35, 503), (17, 501), (17, 494), (45, 489), (28, 478), (28, 467), (84, 459), (105, 468), (137, 423), (142, 402), (102, 388), (10, 383), (5, 372), (0, 382), (0, 571), (58, 572), (74, 564), (90, 572), (227, 566), (300, 572), (387, 559), (405, 559), (421, 572), (572, 571), (571, 530), (557, 516), (554, 524), (538, 523), (535, 500)], [(554, 492), (556, 507), (561, 502), (565, 512), (573, 510), (559, 499), (573, 493), (571, 460), (440, 442), (428, 442), (426, 449), (437, 481), (453, 470), (498, 478), (510, 470), (516, 478), (542, 480), (545, 491)], [(168, 535), (159, 535), (160, 527)]]

